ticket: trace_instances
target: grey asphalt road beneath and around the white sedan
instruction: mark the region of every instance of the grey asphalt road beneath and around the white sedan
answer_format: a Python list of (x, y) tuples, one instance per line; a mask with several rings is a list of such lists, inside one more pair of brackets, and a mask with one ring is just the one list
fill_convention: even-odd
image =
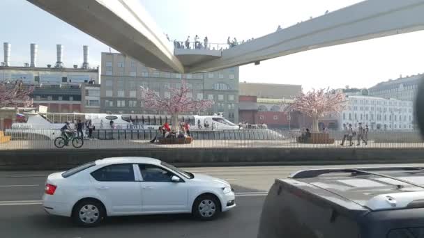
[(188, 214), (125, 216), (109, 218), (97, 228), (79, 228), (68, 218), (43, 211), (40, 199), (45, 177), (53, 171), (0, 171), (0, 237), (256, 237), (266, 191), (273, 180), (305, 168), (319, 166), (188, 168), (232, 183), (237, 207), (208, 222), (195, 221)]

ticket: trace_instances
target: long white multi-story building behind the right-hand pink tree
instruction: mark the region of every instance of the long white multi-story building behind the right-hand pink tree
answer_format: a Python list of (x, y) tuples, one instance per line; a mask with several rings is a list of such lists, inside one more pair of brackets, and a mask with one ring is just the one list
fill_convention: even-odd
[(343, 124), (358, 127), (368, 125), (371, 130), (414, 129), (413, 103), (365, 95), (348, 95), (347, 107), (340, 113), (339, 129)]

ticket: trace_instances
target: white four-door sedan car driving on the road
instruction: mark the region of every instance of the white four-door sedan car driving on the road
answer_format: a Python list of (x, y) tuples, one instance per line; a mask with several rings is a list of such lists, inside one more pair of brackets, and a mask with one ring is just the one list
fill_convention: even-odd
[(144, 157), (99, 159), (52, 173), (43, 195), (47, 213), (84, 226), (139, 214), (192, 213), (210, 220), (235, 206), (228, 182)]

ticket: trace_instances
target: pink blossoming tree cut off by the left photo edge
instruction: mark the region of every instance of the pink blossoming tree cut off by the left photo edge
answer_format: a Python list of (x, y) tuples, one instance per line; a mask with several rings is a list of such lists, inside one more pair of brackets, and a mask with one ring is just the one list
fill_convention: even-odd
[(32, 106), (33, 100), (30, 97), (32, 92), (33, 87), (24, 86), (22, 81), (0, 82), (0, 108)]

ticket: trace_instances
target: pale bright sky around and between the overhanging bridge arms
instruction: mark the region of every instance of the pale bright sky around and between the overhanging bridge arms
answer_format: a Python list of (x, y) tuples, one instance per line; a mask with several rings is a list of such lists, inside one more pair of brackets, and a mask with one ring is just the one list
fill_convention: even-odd
[[(109, 0), (115, 1), (115, 0)], [(318, 17), (358, 0), (134, 0), (141, 1), (171, 40), (187, 35), (209, 42), (258, 38), (277, 29)], [(1, 42), (12, 44), (12, 65), (29, 62), (29, 44), (38, 43), (38, 65), (54, 64), (56, 44), (65, 47), (66, 66), (82, 63), (82, 45), (90, 46), (91, 65), (109, 47), (24, 0), (2, 0)], [(7, 20), (6, 20), (7, 19)], [(240, 81), (301, 84), (303, 88), (370, 87), (380, 81), (424, 72), (424, 31), (395, 35), (282, 56), (240, 69)], [(3, 52), (3, 44), (0, 46)], [(3, 61), (3, 57), (1, 57)]]

